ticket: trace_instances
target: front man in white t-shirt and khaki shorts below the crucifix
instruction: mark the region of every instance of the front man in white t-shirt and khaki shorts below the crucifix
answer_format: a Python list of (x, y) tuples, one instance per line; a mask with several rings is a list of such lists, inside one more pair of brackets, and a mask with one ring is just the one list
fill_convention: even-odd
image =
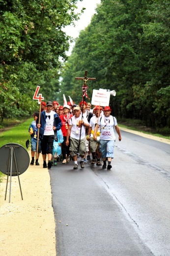
[(81, 168), (85, 168), (84, 155), (85, 155), (85, 129), (89, 128), (89, 123), (84, 117), (82, 119), (80, 107), (74, 108), (74, 116), (70, 119), (69, 127), (67, 130), (66, 145), (69, 145), (70, 137), (70, 154), (74, 160), (74, 168), (78, 169), (77, 153), (80, 153)]

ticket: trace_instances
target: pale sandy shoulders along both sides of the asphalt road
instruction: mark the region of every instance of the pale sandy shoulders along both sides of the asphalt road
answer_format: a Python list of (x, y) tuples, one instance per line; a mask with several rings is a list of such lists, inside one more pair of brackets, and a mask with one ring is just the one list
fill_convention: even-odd
[[(167, 139), (121, 129), (170, 144)], [(56, 256), (50, 175), (42, 168), (41, 156), (39, 162), (20, 175), (24, 200), (17, 177), (12, 177), (10, 203), (9, 185), (4, 200), (7, 176), (0, 183), (0, 256)]]

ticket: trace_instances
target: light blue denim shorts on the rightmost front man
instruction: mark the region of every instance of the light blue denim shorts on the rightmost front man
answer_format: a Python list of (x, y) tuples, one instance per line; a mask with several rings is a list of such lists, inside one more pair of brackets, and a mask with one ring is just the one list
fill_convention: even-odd
[(100, 139), (99, 151), (102, 154), (102, 158), (113, 158), (114, 152), (114, 140), (103, 140)]

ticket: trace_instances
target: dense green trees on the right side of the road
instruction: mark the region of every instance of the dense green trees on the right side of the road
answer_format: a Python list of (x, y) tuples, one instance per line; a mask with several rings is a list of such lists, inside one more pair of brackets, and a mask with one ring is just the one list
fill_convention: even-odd
[(114, 115), (170, 128), (170, 1), (101, 0), (65, 64), (61, 93), (78, 103), (89, 77), (93, 89), (110, 89)]

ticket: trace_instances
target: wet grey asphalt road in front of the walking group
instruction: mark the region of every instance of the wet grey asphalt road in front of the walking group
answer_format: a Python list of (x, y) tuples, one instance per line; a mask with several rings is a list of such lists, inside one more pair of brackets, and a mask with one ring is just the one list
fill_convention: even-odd
[(57, 256), (170, 255), (170, 145), (121, 134), (110, 171), (49, 171)]

